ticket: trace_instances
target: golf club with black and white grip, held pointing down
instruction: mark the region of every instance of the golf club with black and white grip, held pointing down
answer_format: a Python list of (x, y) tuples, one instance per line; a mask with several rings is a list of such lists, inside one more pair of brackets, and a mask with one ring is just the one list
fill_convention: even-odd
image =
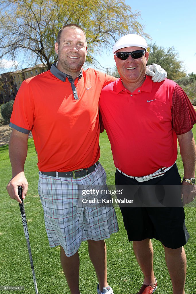
[(22, 201), (21, 204), (19, 203), (19, 206), (20, 206), (20, 212), (21, 212), (21, 217), (22, 217), (22, 224), (23, 224), (23, 228), (24, 228), (24, 234), (25, 234), (26, 243), (27, 243), (28, 252), (29, 252), (29, 259), (30, 259), (31, 270), (32, 270), (32, 274), (33, 274), (35, 293), (38, 294), (37, 282), (36, 282), (35, 271), (34, 271), (34, 266), (33, 266), (33, 259), (32, 259), (32, 254), (31, 254), (31, 247), (30, 247), (30, 242), (29, 242), (29, 232), (28, 232), (28, 227), (27, 227), (26, 214), (25, 214), (25, 210), (24, 210), (24, 202), (23, 202), (23, 198), (22, 198), (22, 187), (21, 186), (19, 186), (19, 188), (18, 188), (18, 193), (19, 193), (19, 197)]

